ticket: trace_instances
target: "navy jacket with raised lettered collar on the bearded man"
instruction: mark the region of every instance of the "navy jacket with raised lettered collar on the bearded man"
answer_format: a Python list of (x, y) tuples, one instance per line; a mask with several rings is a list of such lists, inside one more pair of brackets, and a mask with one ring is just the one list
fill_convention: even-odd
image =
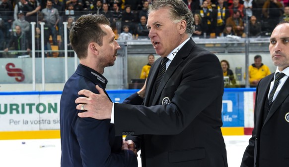
[(101, 74), (81, 64), (66, 82), (60, 100), (61, 167), (138, 167), (134, 153), (121, 150), (122, 136), (115, 136), (110, 119), (77, 116), (77, 92), (99, 93), (95, 85), (105, 91), (106, 83)]

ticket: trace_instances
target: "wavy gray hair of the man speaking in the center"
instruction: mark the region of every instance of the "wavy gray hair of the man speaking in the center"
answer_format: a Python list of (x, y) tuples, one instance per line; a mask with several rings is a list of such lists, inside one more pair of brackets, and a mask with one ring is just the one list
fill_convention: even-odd
[(194, 16), (183, 0), (153, 0), (151, 5), (149, 5), (147, 15), (149, 15), (149, 13), (152, 11), (162, 8), (169, 9), (171, 13), (170, 17), (174, 23), (185, 20), (187, 22), (186, 33), (189, 35), (189, 37), (192, 36), (195, 31), (195, 26), (193, 25)]

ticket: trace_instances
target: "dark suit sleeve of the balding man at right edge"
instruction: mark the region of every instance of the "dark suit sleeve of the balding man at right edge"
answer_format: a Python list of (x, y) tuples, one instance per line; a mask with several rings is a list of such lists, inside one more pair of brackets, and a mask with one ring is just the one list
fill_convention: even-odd
[[(256, 97), (255, 99), (257, 99), (258, 96), (258, 87), (259, 87), (259, 83), (258, 86), (256, 88)], [(241, 167), (254, 167), (254, 150), (255, 150), (255, 144), (256, 144), (256, 106), (257, 103), (255, 103), (255, 107), (254, 107), (254, 129), (252, 131), (252, 137), (249, 139), (249, 145), (247, 146), (243, 158), (242, 158), (242, 163), (241, 163)]]

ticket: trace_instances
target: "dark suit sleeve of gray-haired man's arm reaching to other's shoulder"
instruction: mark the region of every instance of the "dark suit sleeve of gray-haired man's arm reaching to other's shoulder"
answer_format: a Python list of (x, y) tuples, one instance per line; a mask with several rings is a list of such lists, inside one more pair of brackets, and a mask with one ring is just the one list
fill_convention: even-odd
[[(201, 112), (212, 120), (220, 118), (223, 77), (219, 60), (205, 50), (196, 54), (186, 59), (182, 70), (171, 77), (179, 78), (175, 85), (163, 89), (163, 93), (174, 94), (170, 104), (151, 107), (115, 104), (116, 135), (123, 131), (178, 134)], [(205, 110), (208, 106), (212, 110)]]

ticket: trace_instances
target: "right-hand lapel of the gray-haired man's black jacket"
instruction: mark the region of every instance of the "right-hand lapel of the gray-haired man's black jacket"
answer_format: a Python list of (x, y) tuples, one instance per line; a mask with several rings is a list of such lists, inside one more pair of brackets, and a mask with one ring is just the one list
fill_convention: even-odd
[[(176, 54), (173, 61), (170, 63), (168, 69), (166, 70), (164, 77), (159, 84), (159, 87), (155, 93), (155, 96), (152, 101), (152, 105), (156, 105), (158, 102), (158, 99), (161, 95), (161, 92), (165, 86), (165, 84), (168, 82), (168, 80), (173, 75), (174, 71), (177, 69), (177, 67), (184, 61), (184, 59), (189, 55), (190, 51), (192, 50), (192, 45), (194, 46), (196, 43), (190, 39), (187, 43), (183, 45), (183, 47), (180, 49), (180, 51)], [(160, 63), (159, 63), (160, 64)]]

